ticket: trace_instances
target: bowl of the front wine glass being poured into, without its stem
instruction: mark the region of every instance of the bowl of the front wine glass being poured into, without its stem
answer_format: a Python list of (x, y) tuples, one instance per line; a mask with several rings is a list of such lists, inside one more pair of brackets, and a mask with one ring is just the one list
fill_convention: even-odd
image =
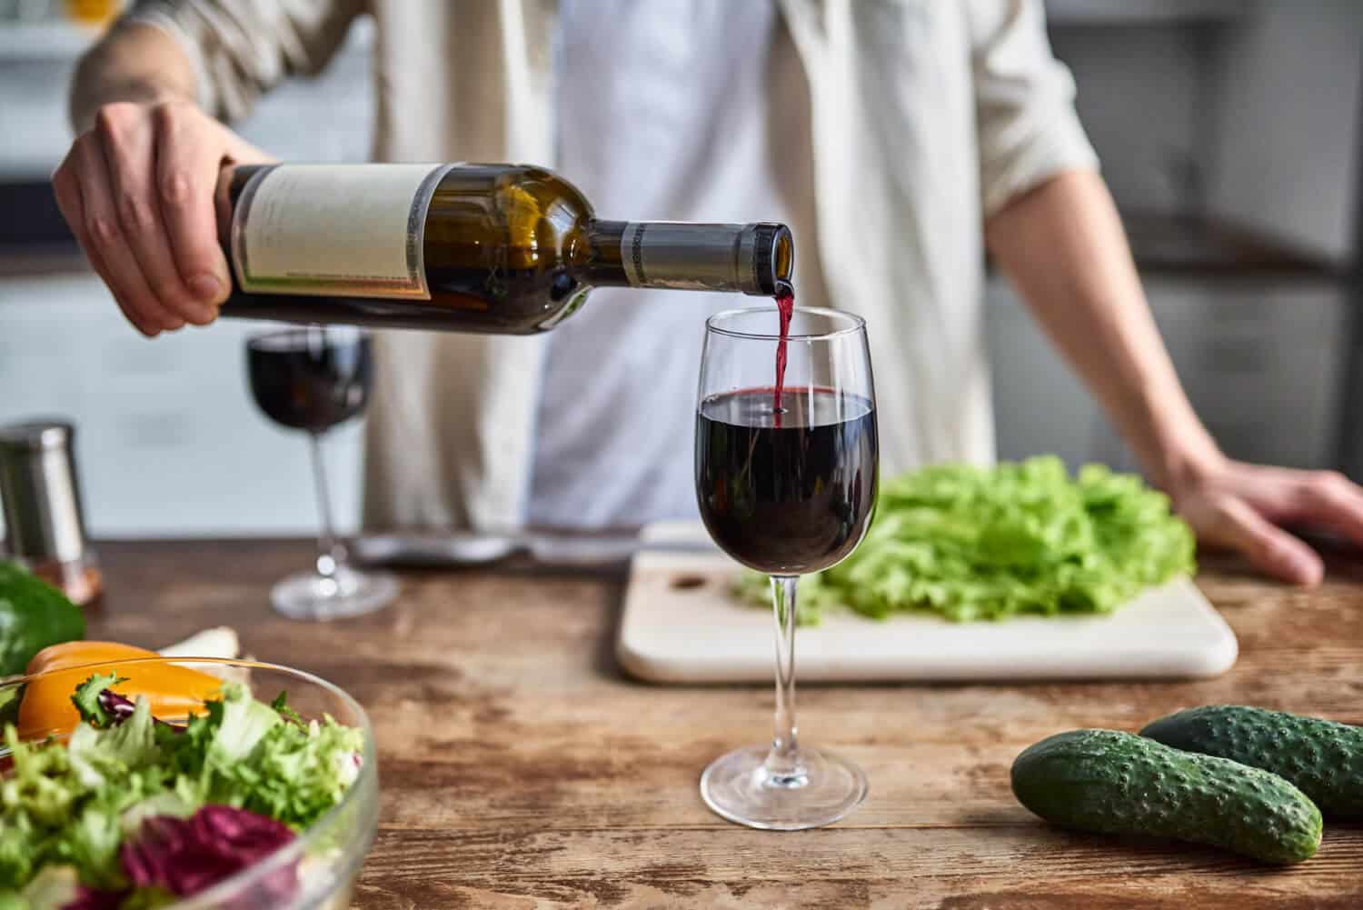
[(777, 404), (767, 308), (707, 323), (696, 407), (701, 517), (721, 550), (771, 576), (821, 572), (861, 542), (875, 505), (878, 437), (866, 329), (795, 310)]

